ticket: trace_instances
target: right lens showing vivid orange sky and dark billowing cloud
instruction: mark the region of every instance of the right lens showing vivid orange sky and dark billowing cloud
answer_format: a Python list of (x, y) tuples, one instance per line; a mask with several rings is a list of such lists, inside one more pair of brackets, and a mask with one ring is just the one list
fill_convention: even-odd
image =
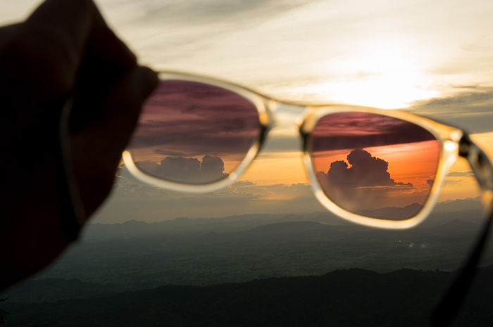
[(423, 207), (437, 172), (440, 146), (423, 127), (371, 113), (322, 117), (311, 157), (325, 195), (365, 217), (403, 220)]

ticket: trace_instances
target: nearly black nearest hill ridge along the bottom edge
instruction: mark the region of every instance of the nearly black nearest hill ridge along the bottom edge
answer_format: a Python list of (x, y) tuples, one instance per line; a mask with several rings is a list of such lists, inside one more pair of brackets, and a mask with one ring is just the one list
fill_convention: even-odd
[[(8, 326), (428, 326), (452, 273), (363, 269), (212, 286), (151, 290), (43, 303), (2, 304)], [(491, 326), (493, 271), (482, 269), (452, 326)]]

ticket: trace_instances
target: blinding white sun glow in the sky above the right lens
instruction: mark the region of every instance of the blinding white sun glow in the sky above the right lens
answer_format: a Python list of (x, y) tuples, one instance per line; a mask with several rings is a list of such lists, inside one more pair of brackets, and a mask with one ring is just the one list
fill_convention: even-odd
[(394, 109), (438, 96), (426, 79), (423, 56), (411, 54), (409, 45), (397, 40), (372, 40), (343, 58), (318, 64), (325, 81), (308, 84), (305, 98)]

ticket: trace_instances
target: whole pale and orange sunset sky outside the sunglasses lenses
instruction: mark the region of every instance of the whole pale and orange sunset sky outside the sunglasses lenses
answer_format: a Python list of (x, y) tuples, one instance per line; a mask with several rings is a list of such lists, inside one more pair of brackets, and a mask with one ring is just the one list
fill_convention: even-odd
[[(22, 20), (38, 3), (2, 0), (0, 23)], [(493, 156), (493, 1), (96, 3), (156, 70), (219, 77), (286, 101), (399, 108), (465, 129)], [(146, 186), (122, 168), (94, 222), (324, 210), (300, 146), (294, 131), (275, 129), (236, 184), (205, 195)], [(470, 169), (458, 162), (440, 200), (475, 196)]]

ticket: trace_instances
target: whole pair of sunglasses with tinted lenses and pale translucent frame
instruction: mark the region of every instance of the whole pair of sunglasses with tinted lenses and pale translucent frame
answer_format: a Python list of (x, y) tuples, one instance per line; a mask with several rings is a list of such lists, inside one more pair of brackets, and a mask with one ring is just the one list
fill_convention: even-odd
[[(458, 157), (468, 160), (485, 215), (492, 215), (493, 167), (461, 129), (399, 110), (277, 101), (179, 72), (161, 72), (160, 79), (123, 153), (127, 169), (147, 184), (193, 193), (225, 188), (249, 167), (271, 129), (290, 125), (301, 136), (313, 193), (343, 219), (383, 229), (416, 226)], [(464, 276), (475, 269), (486, 234), (487, 226)], [(451, 319), (470, 283), (464, 276), (436, 321)]]

